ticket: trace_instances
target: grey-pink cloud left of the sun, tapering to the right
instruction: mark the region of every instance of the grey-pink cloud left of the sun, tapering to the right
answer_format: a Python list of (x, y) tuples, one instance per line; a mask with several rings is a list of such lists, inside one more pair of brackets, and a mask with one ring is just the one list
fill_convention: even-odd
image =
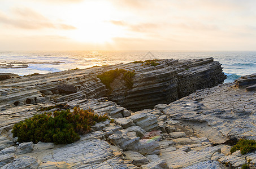
[(0, 24), (2, 23), (22, 29), (76, 29), (72, 25), (53, 23), (53, 21), (47, 19), (41, 14), (38, 14), (36, 11), (33, 11), (30, 8), (15, 8), (15, 10), (12, 11), (12, 14), (14, 14), (14, 16), (10, 17), (0, 12)]

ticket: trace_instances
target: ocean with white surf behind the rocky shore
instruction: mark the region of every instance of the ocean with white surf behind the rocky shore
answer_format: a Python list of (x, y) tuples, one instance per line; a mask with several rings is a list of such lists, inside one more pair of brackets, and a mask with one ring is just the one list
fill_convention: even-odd
[(95, 65), (147, 59), (201, 59), (213, 57), (233, 82), (256, 73), (256, 51), (0, 51), (0, 73), (28, 75), (84, 69)]

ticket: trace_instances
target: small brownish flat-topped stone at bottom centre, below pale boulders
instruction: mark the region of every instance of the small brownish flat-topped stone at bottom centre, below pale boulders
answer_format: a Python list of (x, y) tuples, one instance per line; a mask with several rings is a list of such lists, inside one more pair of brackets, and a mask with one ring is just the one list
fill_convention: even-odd
[(138, 152), (127, 151), (124, 152), (124, 154), (124, 159), (131, 160), (132, 164), (134, 164), (135, 166), (140, 167), (142, 164), (149, 163), (149, 160)]

